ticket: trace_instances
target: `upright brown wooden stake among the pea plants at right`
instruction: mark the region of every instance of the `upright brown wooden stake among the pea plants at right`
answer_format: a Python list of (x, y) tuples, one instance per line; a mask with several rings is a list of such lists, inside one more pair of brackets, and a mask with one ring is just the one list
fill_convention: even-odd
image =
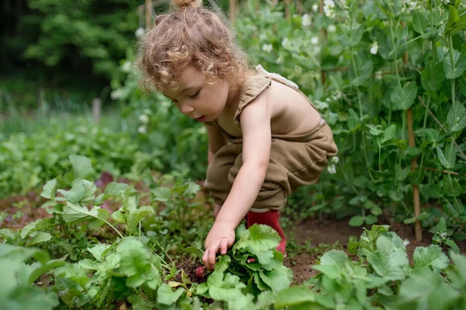
[[(408, 52), (406, 51), (403, 54), (403, 68), (408, 64)], [(414, 129), (413, 129), (413, 112), (411, 109), (406, 110), (406, 120), (408, 125), (408, 145), (409, 147), (415, 147), (416, 142), (414, 140)], [(417, 169), (417, 157), (411, 159), (411, 171)], [(421, 214), (421, 200), (419, 198), (419, 186), (413, 184), (413, 204), (414, 204), (414, 216), (418, 217)], [(422, 228), (421, 222), (416, 220), (414, 222), (414, 235), (416, 236), (416, 241), (422, 241)]]

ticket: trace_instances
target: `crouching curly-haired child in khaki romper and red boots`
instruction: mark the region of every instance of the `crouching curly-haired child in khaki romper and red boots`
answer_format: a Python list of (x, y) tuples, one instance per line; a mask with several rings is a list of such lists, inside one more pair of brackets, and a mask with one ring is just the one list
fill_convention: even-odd
[[(287, 196), (318, 181), (337, 154), (332, 131), (298, 86), (262, 67), (251, 72), (230, 29), (199, 0), (173, 0), (142, 39), (143, 84), (155, 85), (185, 115), (205, 123), (209, 167), (205, 187), (216, 202), (203, 262), (232, 246), (243, 218), (265, 224), (281, 241)], [(146, 87), (147, 88), (147, 87)]]

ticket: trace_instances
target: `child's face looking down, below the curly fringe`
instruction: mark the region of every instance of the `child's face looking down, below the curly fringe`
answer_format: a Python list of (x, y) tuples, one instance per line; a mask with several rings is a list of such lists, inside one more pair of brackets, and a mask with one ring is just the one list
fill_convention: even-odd
[(178, 88), (174, 90), (166, 86), (163, 94), (176, 104), (181, 113), (200, 122), (217, 119), (227, 101), (233, 98), (228, 83), (216, 80), (214, 84), (207, 84), (204, 74), (194, 67), (187, 67), (175, 82)]

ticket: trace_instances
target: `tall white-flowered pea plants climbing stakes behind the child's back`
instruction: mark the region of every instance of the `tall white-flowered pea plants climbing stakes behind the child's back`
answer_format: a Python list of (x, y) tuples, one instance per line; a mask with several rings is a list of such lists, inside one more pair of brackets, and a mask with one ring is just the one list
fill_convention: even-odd
[(245, 1), (235, 23), (251, 63), (295, 80), (339, 148), (293, 202), (312, 191), (308, 213), (352, 215), (354, 226), (385, 213), (433, 227), (443, 216), (464, 239), (466, 2), (300, 3)]

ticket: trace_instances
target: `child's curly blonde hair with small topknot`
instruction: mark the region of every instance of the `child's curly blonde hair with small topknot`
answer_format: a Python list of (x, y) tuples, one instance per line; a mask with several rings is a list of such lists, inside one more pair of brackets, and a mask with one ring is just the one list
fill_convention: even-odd
[(215, 78), (235, 83), (247, 75), (246, 56), (234, 43), (226, 21), (202, 7), (202, 0), (172, 2), (176, 10), (157, 16), (140, 41), (142, 88), (175, 88), (174, 80), (187, 66), (202, 72), (208, 83)]

